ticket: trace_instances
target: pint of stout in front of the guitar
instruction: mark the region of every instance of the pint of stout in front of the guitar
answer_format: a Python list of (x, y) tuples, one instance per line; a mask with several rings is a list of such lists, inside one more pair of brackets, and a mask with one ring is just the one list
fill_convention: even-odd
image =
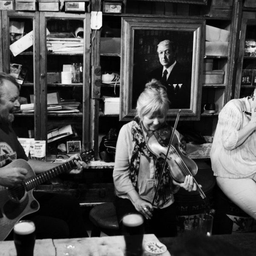
[(13, 240), (17, 256), (33, 256), (35, 246), (34, 222), (18, 221), (14, 225)]

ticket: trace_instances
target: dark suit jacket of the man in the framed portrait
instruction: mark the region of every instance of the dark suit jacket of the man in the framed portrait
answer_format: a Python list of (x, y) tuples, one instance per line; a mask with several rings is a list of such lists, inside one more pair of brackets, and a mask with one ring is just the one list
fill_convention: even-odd
[[(152, 78), (162, 80), (163, 66), (151, 71), (148, 80)], [(183, 65), (176, 61), (166, 84), (167, 95), (171, 102), (170, 108), (190, 108), (191, 72), (184, 69)]]

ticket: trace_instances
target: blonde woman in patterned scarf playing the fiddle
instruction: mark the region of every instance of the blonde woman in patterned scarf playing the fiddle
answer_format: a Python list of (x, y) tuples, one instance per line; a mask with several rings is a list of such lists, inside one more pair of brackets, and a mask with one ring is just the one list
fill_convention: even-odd
[(127, 213), (140, 212), (145, 217), (145, 232), (156, 236), (177, 233), (173, 193), (179, 187), (196, 190), (191, 176), (186, 176), (184, 183), (176, 183), (165, 170), (155, 203), (151, 205), (160, 167), (145, 141), (155, 130), (166, 125), (168, 109), (166, 88), (153, 79), (137, 100), (134, 121), (123, 125), (119, 132), (113, 170), (118, 221)]

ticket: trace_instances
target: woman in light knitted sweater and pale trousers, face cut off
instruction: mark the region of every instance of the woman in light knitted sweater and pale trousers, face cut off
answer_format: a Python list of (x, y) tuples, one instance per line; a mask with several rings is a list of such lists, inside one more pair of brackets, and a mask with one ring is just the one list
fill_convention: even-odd
[[(254, 92), (255, 94), (255, 92)], [(256, 219), (256, 99), (232, 99), (221, 110), (211, 149), (217, 184)]]

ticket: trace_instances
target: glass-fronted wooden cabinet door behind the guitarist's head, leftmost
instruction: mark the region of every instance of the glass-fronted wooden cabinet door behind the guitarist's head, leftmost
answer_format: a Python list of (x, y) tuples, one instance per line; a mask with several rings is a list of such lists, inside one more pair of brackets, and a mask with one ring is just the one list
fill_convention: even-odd
[[(30, 37), (30, 44), (27, 44), (29, 40), (26, 39), (22, 51), (15, 52), (13, 48), (11, 51), (10, 45), (25, 36)], [(39, 12), (3, 11), (2, 38), (3, 71), (10, 73), (10, 64), (16, 64), (12, 67), (21, 67), (25, 79), (24, 81), (19, 79), (22, 97), (20, 103), (31, 103), (31, 100), (35, 102), (34, 112), (15, 114), (13, 128), (18, 137), (33, 137), (41, 140)]]

